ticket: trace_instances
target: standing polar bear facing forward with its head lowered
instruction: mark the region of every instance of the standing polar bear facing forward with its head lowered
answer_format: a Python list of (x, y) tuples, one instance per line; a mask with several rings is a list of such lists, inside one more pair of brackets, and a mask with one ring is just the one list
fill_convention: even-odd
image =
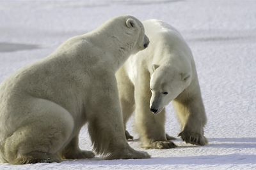
[[(179, 136), (186, 143), (205, 145), (207, 118), (189, 46), (163, 21), (147, 20), (143, 25), (150, 45), (129, 57), (116, 73), (124, 124), (135, 110), (142, 146), (173, 148), (172, 138), (164, 132), (164, 107), (172, 101), (181, 124)], [(132, 138), (127, 131), (125, 135)]]

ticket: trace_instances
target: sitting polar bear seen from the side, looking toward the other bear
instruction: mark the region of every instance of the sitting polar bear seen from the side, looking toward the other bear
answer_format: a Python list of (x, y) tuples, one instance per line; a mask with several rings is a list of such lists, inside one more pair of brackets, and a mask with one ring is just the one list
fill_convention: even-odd
[(86, 122), (95, 152), (106, 159), (149, 158), (127, 144), (115, 78), (129, 55), (148, 43), (137, 18), (116, 17), (1, 83), (2, 162), (92, 158), (78, 146)]

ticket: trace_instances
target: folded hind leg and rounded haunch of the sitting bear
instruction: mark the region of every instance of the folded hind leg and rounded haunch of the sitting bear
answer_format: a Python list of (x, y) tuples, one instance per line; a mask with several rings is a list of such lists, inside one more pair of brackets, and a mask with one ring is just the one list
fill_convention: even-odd
[(59, 152), (73, 131), (73, 118), (45, 99), (33, 98), (27, 106), (24, 111), (30, 116), (5, 140), (4, 159), (11, 164), (60, 162)]

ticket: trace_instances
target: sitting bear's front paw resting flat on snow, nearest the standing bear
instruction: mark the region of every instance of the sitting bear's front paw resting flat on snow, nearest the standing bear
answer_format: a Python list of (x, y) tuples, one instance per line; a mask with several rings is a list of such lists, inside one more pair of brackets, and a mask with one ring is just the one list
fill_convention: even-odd
[(118, 150), (113, 152), (106, 159), (148, 159), (150, 155), (147, 152), (134, 150), (132, 148)]

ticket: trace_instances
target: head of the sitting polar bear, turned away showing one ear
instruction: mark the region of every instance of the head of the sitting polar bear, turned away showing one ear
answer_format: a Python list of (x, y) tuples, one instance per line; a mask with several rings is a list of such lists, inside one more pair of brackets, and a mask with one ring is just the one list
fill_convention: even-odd
[(149, 44), (143, 24), (131, 15), (112, 18), (99, 27), (99, 31), (108, 36), (109, 45), (115, 43), (115, 47), (129, 54), (144, 50)]

